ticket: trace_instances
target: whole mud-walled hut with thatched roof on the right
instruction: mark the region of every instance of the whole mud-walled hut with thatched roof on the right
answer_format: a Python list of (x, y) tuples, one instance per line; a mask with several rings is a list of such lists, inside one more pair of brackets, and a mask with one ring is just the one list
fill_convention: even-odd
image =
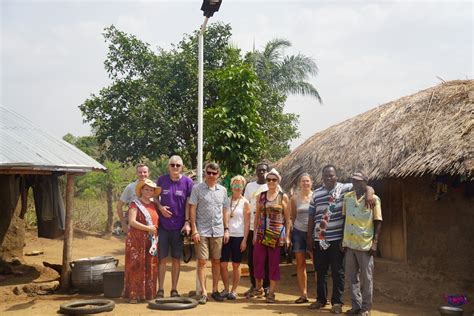
[(286, 190), (302, 172), (321, 181), (326, 164), (343, 182), (366, 172), (382, 201), (379, 255), (452, 275), (462, 289), (474, 282), (473, 134), (474, 80), (450, 81), (316, 133), (277, 168)]

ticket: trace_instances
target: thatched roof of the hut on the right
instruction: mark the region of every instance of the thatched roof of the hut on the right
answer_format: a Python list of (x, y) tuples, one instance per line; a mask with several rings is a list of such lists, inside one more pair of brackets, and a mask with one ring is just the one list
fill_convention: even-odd
[(302, 172), (320, 181), (333, 164), (341, 180), (424, 174), (474, 176), (474, 80), (449, 81), (316, 133), (277, 163), (282, 186)]

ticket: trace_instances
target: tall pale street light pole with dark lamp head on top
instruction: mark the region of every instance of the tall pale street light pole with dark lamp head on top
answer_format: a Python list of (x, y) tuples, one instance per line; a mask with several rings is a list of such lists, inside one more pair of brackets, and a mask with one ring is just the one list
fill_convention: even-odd
[(198, 157), (197, 157), (197, 178), (202, 182), (202, 147), (203, 147), (203, 125), (204, 125), (204, 32), (206, 31), (207, 20), (219, 11), (222, 0), (203, 0), (201, 10), (204, 12), (204, 23), (199, 31), (199, 53), (198, 53)]

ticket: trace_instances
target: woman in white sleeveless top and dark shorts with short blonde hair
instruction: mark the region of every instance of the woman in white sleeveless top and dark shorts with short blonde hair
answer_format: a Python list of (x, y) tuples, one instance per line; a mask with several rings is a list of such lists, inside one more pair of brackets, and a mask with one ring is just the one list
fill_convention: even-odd
[[(236, 290), (240, 282), (240, 263), (242, 254), (247, 248), (247, 237), (250, 228), (250, 204), (243, 197), (242, 192), (245, 188), (245, 178), (235, 176), (230, 180), (232, 197), (229, 199), (229, 242), (222, 246), (221, 254), (221, 276), (224, 283), (222, 297), (228, 300), (237, 298)], [(229, 273), (227, 266), (232, 260), (233, 282), (232, 290), (229, 291)]]

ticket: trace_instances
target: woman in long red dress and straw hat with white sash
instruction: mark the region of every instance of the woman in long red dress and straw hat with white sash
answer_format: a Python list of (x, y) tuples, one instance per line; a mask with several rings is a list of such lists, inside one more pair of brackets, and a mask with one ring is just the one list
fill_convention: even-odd
[(125, 242), (125, 288), (129, 303), (151, 300), (156, 294), (158, 276), (158, 213), (152, 198), (161, 189), (149, 180), (140, 180), (135, 188), (138, 199), (130, 203)]

